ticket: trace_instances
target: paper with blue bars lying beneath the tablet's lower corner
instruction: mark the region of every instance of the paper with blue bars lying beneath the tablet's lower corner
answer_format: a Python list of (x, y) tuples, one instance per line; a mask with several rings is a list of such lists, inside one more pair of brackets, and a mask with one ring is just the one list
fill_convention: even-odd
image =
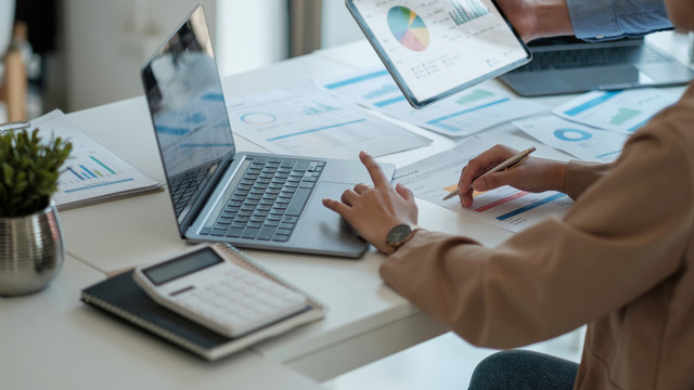
[(549, 110), (541, 104), (514, 98), (501, 88), (487, 84), (470, 88), (436, 104), (414, 109), (383, 67), (321, 83), (338, 96), (449, 136), (471, 135), (513, 119)]

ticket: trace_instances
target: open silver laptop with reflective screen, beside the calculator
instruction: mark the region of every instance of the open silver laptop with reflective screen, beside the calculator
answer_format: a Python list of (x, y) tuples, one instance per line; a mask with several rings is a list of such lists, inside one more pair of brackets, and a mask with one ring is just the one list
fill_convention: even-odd
[[(202, 5), (141, 76), (182, 238), (348, 258), (367, 250), (321, 203), (371, 183), (360, 161), (236, 152)], [(393, 165), (383, 170), (393, 178)]]

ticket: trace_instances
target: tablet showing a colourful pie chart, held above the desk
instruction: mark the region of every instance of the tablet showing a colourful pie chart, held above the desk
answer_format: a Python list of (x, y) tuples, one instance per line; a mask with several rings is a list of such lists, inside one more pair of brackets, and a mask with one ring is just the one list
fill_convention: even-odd
[(531, 60), (493, 0), (345, 2), (414, 108)]

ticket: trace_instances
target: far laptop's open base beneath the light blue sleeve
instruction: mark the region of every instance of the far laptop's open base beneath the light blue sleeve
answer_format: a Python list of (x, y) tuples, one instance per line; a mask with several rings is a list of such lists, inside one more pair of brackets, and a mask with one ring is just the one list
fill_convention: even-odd
[(528, 44), (532, 61), (499, 77), (523, 96), (687, 83), (694, 72), (643, 38), (586, 42), (575, 37)]

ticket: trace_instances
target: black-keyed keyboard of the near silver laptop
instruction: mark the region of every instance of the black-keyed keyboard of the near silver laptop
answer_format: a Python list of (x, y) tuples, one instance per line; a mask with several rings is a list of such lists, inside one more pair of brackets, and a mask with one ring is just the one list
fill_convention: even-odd
[(253, 157), (213, 227), (201, 234), (288, 240), (324, 166), (322, 160)]

